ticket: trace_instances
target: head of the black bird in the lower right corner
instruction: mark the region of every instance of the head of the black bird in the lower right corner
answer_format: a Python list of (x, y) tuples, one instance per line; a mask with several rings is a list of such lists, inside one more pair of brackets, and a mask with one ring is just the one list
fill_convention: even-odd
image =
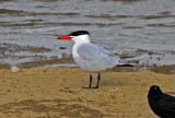
[(158, 85), (152, 85), (150, 87), (150, 91), (149, 91), (149, 94), (148, 94), (148, 97), (150, 96), (154, 96), (154, 95), (160, 95), (162, 94), (163, 92), (161, 91), (161, 88), (158, 86)]

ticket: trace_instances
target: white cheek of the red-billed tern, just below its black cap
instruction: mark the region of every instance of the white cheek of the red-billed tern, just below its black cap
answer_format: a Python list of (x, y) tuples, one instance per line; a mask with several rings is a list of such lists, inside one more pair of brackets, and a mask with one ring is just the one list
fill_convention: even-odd
[(90, 36), (89, 35), (81, 35), (77, 36), (74, 39), (72, 39), (75, 44), (82, 44), (82, 43), (90, 43)]

